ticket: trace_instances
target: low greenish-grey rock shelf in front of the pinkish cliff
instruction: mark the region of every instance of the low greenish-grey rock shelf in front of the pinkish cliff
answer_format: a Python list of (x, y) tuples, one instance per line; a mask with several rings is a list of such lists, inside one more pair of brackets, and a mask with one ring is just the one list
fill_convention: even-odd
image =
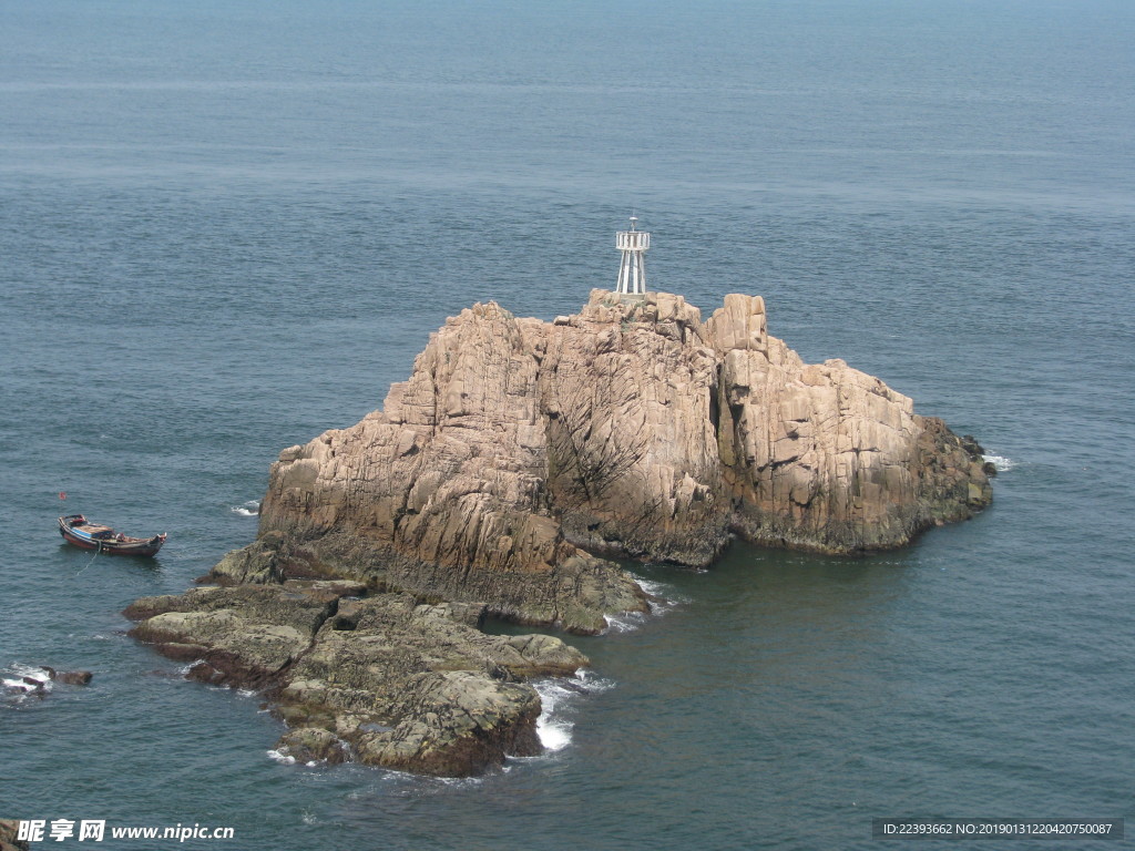
[(523, 681), (588, 664), (547, 635), (494, 637), (485, 607), (359, 597), (353, 582), (207, 587), (135, 601), (132, 635), (190, 676), (264, 690), (296, 760), (356, 760), (464, 776), (541, 750), (540, 699)]

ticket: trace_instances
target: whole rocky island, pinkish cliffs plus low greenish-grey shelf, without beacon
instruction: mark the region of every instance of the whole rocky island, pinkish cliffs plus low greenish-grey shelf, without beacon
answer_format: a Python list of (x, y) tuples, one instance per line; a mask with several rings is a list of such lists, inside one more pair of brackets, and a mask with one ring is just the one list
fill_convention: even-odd
[(758, 296), (594, 290), (578, 315), (447, 320), (380, 411), (280, 453), (257, 540), (133, 634), (257, 688), (281, 752), (463, 775), (539, 751), (526, 681), (587, 659), (488, 615), (598, 633), (648, 608), (605, 556), (704, 567), (731, 537), (855, 554), (969, 517), (981, 447), (839, 360), (806, 364)]

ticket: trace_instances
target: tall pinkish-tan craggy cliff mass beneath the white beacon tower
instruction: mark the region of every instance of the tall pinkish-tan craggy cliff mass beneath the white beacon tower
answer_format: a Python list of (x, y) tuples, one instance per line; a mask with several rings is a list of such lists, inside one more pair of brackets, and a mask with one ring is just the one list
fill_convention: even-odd
[(589, 553), (703, 566), (730, 533), (855, 553), (990, 499), (941, 421), (842, 361), (805, 364), (762, 298), (703, 322), (681, 296), (595, 290), (552, 323), (494, 303), (449, 319), (381, 411), (280, 454), (261, 541), (217, 574), (347, 576), (594, 632), (645, 599)]

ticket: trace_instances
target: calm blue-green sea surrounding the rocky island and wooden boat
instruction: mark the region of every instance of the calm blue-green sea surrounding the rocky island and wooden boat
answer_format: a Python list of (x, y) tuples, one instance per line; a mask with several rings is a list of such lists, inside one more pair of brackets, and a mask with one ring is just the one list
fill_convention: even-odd
[[(33, 848), (1129, 846), (1133, 44), (1130, 0), (0, 0), (0, 679), (93, 672), (2, 690), (0, 817)], [(629, 565), (654, 612), (564, 637), (591, 667), (539, 683), (546, 753), (471, 780), (289, 762), (260, 696), (126, 635), (253, 540), (280, 449), (476, 302), (613, 288), (632, 214), (649, 288), (764, 296), (806, 361), (976, 437), (992, 507)], [(79, 512), (169, 539), (92, 555)]]

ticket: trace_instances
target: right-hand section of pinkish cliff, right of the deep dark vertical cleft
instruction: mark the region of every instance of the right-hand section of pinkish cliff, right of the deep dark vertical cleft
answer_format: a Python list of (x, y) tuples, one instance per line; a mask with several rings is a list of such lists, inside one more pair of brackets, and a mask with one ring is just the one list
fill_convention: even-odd
[(894, 547), (992, 499), (983, 460), (945, 423), (843, 361), (805, 364), (767, 336), (760, 298), (726, 296), (707, 328), (723, 359), (717, 443), (732, 523), (748, 540)]

